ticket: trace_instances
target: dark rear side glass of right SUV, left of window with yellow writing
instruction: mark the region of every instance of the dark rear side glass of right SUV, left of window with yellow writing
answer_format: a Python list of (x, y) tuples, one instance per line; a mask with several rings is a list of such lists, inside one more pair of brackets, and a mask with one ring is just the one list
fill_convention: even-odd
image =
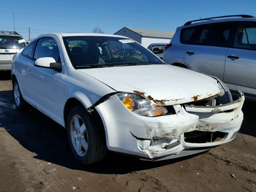
[(230, 23), (204, 24), (181, 31), (180, 42), (183, 44), (205, 45), (205, 46), (229, 46)]

